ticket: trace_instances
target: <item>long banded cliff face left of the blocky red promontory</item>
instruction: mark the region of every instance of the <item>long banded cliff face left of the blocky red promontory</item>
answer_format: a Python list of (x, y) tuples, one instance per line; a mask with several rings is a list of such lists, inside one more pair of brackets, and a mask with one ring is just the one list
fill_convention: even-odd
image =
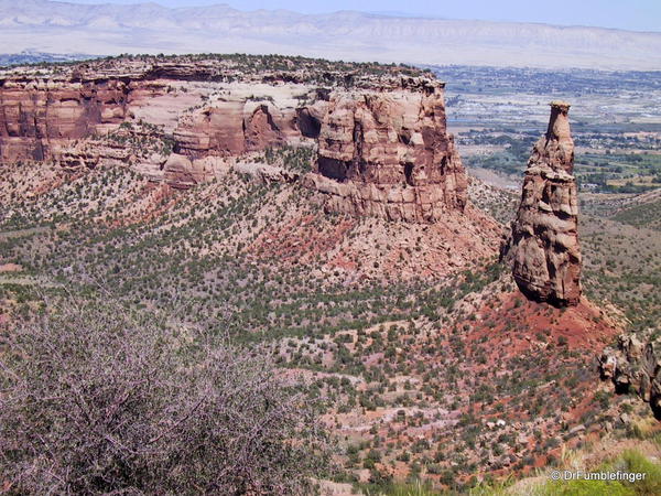
[(192, 159), (263, 150), (301, 136), (293, 96), (305, 95), (306, 86), (209, 82), (212, 74), (161, 67), (0, 77), (0, 160), (58, 160), (74, 141), (122, 122), (161, 127)]

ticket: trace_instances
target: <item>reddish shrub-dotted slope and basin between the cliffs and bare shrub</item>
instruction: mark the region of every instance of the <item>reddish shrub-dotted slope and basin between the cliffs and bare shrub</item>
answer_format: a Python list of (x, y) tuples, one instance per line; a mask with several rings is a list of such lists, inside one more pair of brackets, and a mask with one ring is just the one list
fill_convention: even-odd
[(44, 294), (109, 291), (269, 343), (325, 405), (340, 479), (466, 488), (557, 459), (613, 418), (593, 364), (617, 325), (589, 304), (527, 301), (495, 263), (498, 231), (326, 214), (312, 191), (236, 172), (181, 192), (124, 168), (10, 171), (4, 320)]

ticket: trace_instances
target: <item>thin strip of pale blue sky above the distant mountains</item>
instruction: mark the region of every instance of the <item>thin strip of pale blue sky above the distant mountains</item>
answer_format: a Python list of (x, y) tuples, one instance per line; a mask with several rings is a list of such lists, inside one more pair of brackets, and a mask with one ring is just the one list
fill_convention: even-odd
[[(67, 1), (67, 0), (62, 0)], [(68, 0), (73, 3), (139, 3), (138, 0)], [(227, 3), (239, 10), (288, 9), (303, 13), (360, 10), (448, 19), (545, 22), (636, 31), (661, 31), (661, 0), (155, 0), (166, 7)]]

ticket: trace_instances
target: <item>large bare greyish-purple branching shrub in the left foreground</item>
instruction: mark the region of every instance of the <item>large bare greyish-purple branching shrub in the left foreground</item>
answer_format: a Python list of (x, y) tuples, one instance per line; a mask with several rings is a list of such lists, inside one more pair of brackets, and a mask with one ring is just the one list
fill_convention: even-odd
[(327, 461), (263, 353), (71, 302), (3, 341), (0, 493), (301, 494)]

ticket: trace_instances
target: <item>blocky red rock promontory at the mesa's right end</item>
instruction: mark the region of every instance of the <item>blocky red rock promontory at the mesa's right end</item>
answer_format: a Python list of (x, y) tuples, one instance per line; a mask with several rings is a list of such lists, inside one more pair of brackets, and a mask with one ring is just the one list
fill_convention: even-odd
[(335, 212), (434, 222), (463, 211), (467, 180), (447, 132), (443, 84), (402, 80), (391, 91), (335, 91), (318, 136), (312, 187)]

